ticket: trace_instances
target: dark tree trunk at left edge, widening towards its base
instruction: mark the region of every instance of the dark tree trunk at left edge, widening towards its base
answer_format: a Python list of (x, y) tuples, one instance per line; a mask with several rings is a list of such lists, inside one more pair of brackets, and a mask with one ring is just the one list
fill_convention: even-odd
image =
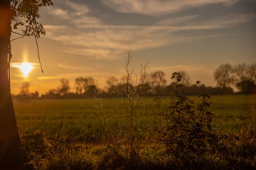
[(9, 45), (12, 11), (0, 2), (0, 169), (35, 169), (20, 139), (11, 98)]

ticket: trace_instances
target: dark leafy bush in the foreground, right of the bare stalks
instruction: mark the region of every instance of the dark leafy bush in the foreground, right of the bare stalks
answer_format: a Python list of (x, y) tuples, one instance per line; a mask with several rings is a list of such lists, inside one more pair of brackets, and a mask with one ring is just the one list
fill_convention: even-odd
[[(180, 92), (174, 92), (169, 107), (159, 111), (166, 120), (166, 125), (163, 130), (160, 127), (158, 139), (165, 143), (167, 153), (177, 166), (209, 168), (211, 155), (223, 159), (228, 145), (232, 144), (229, 141), (231, 138), (212, 129), (213, 114), (208, 110), (212, 102), (210, 96), (205, 94), (211, 87), (202, 87), (201, 82), (197, 81), (202, 94), (199, 95), (201, 102), (196, 105), (184, 94), (182, 75), (174, 72), (172, 79), (174, 78)], [(161, 100), (156, 98), (155, 102), (159, 109)]]

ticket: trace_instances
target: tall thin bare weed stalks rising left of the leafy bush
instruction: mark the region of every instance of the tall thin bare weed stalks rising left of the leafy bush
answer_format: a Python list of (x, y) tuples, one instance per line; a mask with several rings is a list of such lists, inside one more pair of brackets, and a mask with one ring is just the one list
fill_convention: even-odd
[[(111, 77), (107, 83), (109, 84), (110, 88), (109, 90), (116, 94), (118, 103), (122, 106), (123, 113), (125, 113), (124, 117), (126, 118), (127, 125), (124, 125), (124, 129), (121, 129), (126, 134), (124, 138), (124, 142), (129, 145), (129, 158), (133, 163), (135, 161), (139, 161), (140, 159), (140, 137), (144, 135), (147, 129), (147, 114), (148, 114), (148, 108), (147, 108), (147, 79), (146, 79), (146, 67), (147, 64), (141, 64), (140, 65), (140, 78), (137, 79), (136, 74), (134, 72), (134, 68), (131, 67), (131, 56), (132, 52), (127, 52), (127, 58), (124, 65), (125, 70), (125, 83), (122, 85), (116, 86), (117, 80), (114, 77)], [(135, 77), (135, 81), (133, 82), (133, 78)], [(139, 84), (138, 84), (139, 83)], [(99, 106), (97, 108), (100, 110), (102, 118), (104, 120), (105, 126), (108, 128), (108, 123), (105, 122), (105, 116), (102, 112), (102, 103), (101, 98), (99, 97), (100, 91), (98, 88), (95, 90), (95, 99), (98, 102)], [(124, 100), (122, 98), (124, 96)], [(139, 128), (138, 123), (138, 106), (140, 105), (141, 98), (144, 99), (143, 101), (143, 107), (145, 110), (145, 120), (144, 120), (144, 126), (142, 128)], [(120, 122), (122, 123), (122, 120), (120, 119)], [(123, 123), (122, 123), (123, 124)], [(108, 129), (110, 132), (110, 136), (117, 136), (116, 133), (110, 129)], [(112, 138), (112, 141), (113, 140)], [(113, 143), (113, 150), (115, 150), (117, 143)]]

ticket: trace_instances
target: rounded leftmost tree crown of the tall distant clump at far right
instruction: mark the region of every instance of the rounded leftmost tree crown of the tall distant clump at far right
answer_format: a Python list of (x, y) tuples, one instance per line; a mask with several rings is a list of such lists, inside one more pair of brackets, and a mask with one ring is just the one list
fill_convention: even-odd
[(232, 66), (230, 64), (220, 65), (214, 72), (214, 78), (217, 81), (217, 86), (227, 88), (234, 81)]

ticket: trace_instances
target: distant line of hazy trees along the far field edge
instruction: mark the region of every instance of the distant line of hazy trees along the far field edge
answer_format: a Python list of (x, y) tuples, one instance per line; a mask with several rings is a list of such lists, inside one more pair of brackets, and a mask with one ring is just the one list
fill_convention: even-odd
[[(191, 84), (191, 80), (187, 72), (180, 71), (183, 77), (182, 83), (184, 91), (187, 95), (197, 95), (201, 93), (201, 89), (196, 84)], [(217, 87), (212, 88), (209, 94), (233, 94), (231, 86), (236, 86), (240, 91), (238, 93), (249, 94), (256, 93), (256, 64), (246, 65), (239, 64), (232, 67), (230, 64), (220, 65), (214, 72), (214, 78), (217, 82)], [(125, 78), (118, 80), (111, 76), (107, 79), (108, 87), (101, 89), (102, 97), (124, 96), (123, 90)], [(146, 76), (146, 83), (143, 85), (136, 84), (136, 80), (131, 83), (131, 87), (141, 89), (148, 96), (163, 96), (169, 95), (170, 91), (176, 90), (176, 82), (171, 82), (166, 85), (166, 75), (163, 71), (155, 71)], [(70, 82), (68, 79), (60, 79), (60, 85), (56, 89), (50, 89), (45, 94), (39, 96), (39, 93), (29, 92), (30, 84), (24, 82), (20, 87), (20, 93), (13, 95), (13, 98), (18, 99), (58, 99), (58, 98), (92, 98), (95, 94), (96, 83), (92, 77), (76, 78), (74, 82), (75, 91), (71, 91)], [(202, 84), (201, 86), (205, 86)], [(115, 92), (113, 92), (115, 91)], [(118, 93), (116, 93), (118, 91)], [(142, 92), (142, 93), (143, 93)]]

